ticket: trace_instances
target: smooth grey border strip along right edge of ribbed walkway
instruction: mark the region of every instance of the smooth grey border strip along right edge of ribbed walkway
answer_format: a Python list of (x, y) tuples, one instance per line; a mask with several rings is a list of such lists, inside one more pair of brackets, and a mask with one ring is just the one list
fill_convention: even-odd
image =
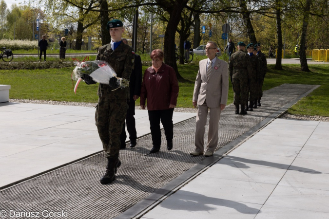
[(314, 91), (315, 89), (319, 88), (320, 85), (314, 85), (314, 87), (307, 91), (306, 93), (298, 96), (296, 99), (291, 101), (289, 104), (286, 104), (284, 107), (282, 107), (280, 110), (277, 110), (276, 112), (272, 113), (270, 116), (265, 118), (263, 121), (252, 127), (250, 130), (245, 132), (244, 134), (237, 137), (235, 140), (230, 142), (229, 144), (221, 147), (219, 150), (213, 153), (212, 157), (208, 157), (204, 159), (199, 164), (196, 164), (186, 172), (182, 173), (169, 183), (165, 184), (161, 188), (155, 190), (154, 193), (150, 194), (143, 200), (137, 202), (132, 207), (128, 208), (126, 211), (124, 211), (122, 214), (116, 216), (114, 219), (139, 219), (143, 215), (145, 215), (148, 211), (152, 210), (156, 205), (158, 205), (160, 202), (162, 202), (164, 199), (169, 197), (171, 194), (176, 192), (178, 189), (183, 187), (185, 184), (187, 184), (189, 181), (193, 180), (195, 177), (200, 175), (202, 172), (204, 172), (207, 168), (218, 162), (220, 159), (222, 159), (227, 153), (231, 152), (236, 147), (240, 146), (242, 143), (247, 141), (249, 138), (251, 138), (253, 135), (255, 135), (258, 131), (260, 131), (262, 128), (265, 128), (267, 125), (269, 125), (274, 119), (280, 118), (291, 106), (296, 104), (299, 100), (301, 100), (303, 97), (310, 94), (310, 92)]

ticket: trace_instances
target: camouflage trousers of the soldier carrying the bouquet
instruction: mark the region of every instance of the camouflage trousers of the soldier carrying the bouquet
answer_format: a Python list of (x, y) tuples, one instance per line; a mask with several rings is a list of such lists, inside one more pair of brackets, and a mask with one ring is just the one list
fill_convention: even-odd
[(126, 100), (98, 98), (95, 121), (100, 141), (106, 157), (118, 158), (120, 149), (120, 134), (126, 119), (128, 104)]

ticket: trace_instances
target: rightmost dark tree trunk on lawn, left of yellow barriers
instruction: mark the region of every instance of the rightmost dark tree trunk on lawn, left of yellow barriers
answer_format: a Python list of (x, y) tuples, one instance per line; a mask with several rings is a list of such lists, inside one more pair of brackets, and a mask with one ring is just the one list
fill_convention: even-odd
[(306, 52), (305, 52), (305, 41), (306, 41), (306, 34), (307, 34), (307, 26), (309, 24), (310, 18), (310, 5), (312, 0), (306, 0), (304, 13), (303, 13), (303, 28), (302, 28), (302, 36), (300, 38), (300, 46), (299, 46), (299, 59), (301, 65), (302, 72), (310, 72), (309, 66), (307, 64), (306, 59)]

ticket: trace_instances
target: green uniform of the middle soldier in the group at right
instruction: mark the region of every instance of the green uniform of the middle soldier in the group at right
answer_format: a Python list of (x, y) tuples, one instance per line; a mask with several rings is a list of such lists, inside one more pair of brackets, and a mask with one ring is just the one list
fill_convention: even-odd
[[(257, 50), (257, 49), (256, 49)], [(257, 101), (257, 83), (258, 80), (261, 80), (259, 75), (262, 74), (262, 63), (259, 60), (259, 58), (256, 55), (251, 55), (251, 61), (252, 61), (252, 80), (250, 82), (249, 86), (249, 110), (252, 110), (253, 104), (255, 101)], [(248, 101), (247, 101), (248, 105)], [(248, 108), (248, 106), (246, 106)]]

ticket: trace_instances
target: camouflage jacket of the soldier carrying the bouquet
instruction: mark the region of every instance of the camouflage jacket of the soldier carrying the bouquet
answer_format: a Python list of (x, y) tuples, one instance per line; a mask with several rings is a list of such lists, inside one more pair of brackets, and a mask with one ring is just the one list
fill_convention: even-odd
[[(134, 68), (134, 58), (133, 48), (121, 42), (114, 51), (110, 43), (100, 47), (96, 60), (106, 61), (114, 69), (117, 77), (129, 80)], [(114, 89), (109, 85), (99, 84), (97, 95), (109, 99), (115, 98), (116, 100), (129, 99), (129, 88), (112, 90)]]

